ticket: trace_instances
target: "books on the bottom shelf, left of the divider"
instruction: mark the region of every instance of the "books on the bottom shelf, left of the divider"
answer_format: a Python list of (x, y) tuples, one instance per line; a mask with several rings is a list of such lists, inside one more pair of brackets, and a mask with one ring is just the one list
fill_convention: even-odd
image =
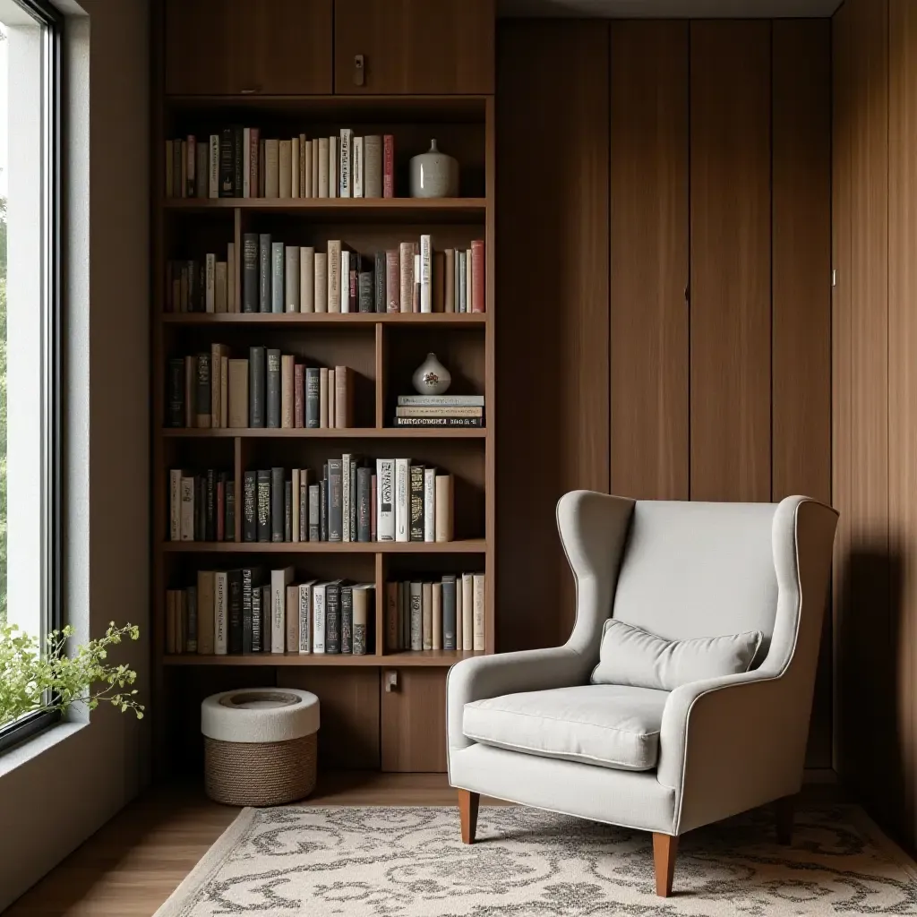
[(373, 583), (294, 579), (293, 567), (199, 570), (195, 585), (166, 591), (166, 653), (371, 652)]

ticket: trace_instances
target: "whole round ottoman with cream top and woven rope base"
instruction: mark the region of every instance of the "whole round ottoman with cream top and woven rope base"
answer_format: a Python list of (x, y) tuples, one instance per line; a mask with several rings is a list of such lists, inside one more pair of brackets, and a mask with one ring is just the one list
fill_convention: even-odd
[(204, 789), (229, 805), (280, 805), (315, 789), (318, 698), (293, 688), (223, 691), (201, 704)]

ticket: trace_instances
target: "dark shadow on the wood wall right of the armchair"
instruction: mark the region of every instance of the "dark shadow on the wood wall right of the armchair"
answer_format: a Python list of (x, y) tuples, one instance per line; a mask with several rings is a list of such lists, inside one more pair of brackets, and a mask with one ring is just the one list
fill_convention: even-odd
[(902, 558), (854, 547), (842, 564), (835, 619), (837, 761), (848, 788), (912, 849), (913, 800), (905, 795), (904, 775), (910, 752), (900, 729)]

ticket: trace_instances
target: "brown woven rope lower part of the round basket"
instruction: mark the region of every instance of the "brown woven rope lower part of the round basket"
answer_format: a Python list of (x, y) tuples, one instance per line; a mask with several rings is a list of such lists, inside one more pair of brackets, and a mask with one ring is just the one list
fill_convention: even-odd
[(286, 742), (220, 742), (204, 736), (204, 789), (227, 805), (282, 805), (315, 790), (318, 734)]

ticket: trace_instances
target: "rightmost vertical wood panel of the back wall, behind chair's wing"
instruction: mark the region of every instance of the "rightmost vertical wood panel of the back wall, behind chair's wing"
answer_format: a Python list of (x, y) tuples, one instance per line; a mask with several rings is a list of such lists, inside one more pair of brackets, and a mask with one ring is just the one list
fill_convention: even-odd
[[(831, 25), (773, 26), (772, 498), (831, 503)], [(831, 767), (831, 615), (806, 763)]]

